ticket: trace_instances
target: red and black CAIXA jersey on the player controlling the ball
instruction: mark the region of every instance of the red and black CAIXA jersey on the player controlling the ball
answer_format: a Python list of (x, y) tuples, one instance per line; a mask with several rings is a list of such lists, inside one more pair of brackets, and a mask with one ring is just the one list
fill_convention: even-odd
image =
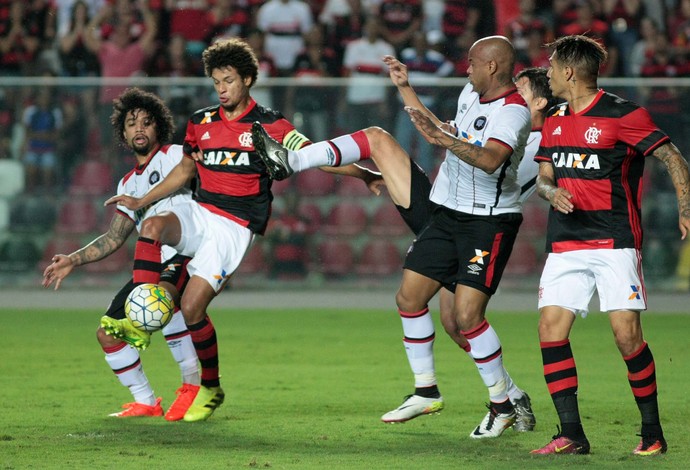
[(271, 179), (254, 150), (251, 127), (259, 121), (278, 142), (295, 127), (277, 111), (254, 100), (244, 114), (232, 121), (220, 105), (196, 111), (187, 123), (185, 157), (201, 150), (196, 201), (211, 212), (227, 217), (252, 232), (263, 234), (271, 213)]

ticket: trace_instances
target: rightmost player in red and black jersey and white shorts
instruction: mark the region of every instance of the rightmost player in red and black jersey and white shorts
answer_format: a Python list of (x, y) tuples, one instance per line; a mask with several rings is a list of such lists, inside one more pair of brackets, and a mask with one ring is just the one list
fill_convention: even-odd
[(659, 420), (655, 364), (640, 312), (647, 308), (642, 275), (641, 191), (645, 157), (668, 169), (678, 196), (681, 238), (690, 229), (688, 165), (644, 108), (599, 89), (606, 50), (585, 36), (550, 44), (549, 83), (566, 102), (542, 129), (537, 194), (549, 201), (548, 257), (539, 281), (539, 341), (544, 378), (560, 431), (535, 454), (586, 454), (590, 446), (578, 407), (578, 375), (570, 331), (588, 312), (595, 289), (608, 312), (616, 346), (639, 408), (642, 439), (633, 451), (666, 452)]

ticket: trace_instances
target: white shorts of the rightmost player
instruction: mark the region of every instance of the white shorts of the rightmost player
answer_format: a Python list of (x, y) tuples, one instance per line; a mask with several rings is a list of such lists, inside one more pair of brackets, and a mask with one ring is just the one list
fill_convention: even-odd
[(647, 310), (639, 250), (549, 253), (539, 280), (539, 308), (556, 305), (584, 317), (595, 289), (602, 312)]

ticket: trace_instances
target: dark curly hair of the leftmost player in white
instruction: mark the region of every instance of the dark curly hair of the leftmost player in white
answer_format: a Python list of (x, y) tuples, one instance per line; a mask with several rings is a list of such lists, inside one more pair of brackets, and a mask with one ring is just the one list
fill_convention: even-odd
[(110, 123), (120, 141), (124, 144), (127, 143), (124, 137), (125, 120), (127, 114), (136, 109), (145, 111), (156, 123), (158, 142), (160, 144), (170, 143), (175, 130), (175, 121), (170, 109), (158, 96), (136, 87), (128, 88), (113, 100), (113, 114), (110, 115)]

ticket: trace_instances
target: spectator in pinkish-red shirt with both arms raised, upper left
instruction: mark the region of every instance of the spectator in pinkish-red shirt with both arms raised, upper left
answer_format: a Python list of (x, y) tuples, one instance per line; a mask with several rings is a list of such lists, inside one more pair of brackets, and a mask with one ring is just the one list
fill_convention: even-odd
[[(86, 47), (97, 55), (101, 76), (105, 79), (142, 74), (147, 60), (155, 52), (154, 40), (158, 30), (156, 19), (146, 1), (142, 0), (138, 5), (136, 10), (132, 4), (129, 9), (126, 6), (119, 7), (115, 12), (113, 5), (105, 4), (89, 22), (89, 31), (101, 31), (102, 27), (109, 29), (106, 22), (112, 22), (112, 31), (107, 37), (98, 34), (85, 36)], [(144, 21), (143, 30), (138, 36), (140, 28), (137, 27), (135, 13), (141, 14)], [(101, 31), (101, 34), (104, 32)], [(99, 129), (101, 148), (106, 159), (113, 158), (110, 152), (115, 147), (110, 125), (112, 102), (125, 88), (126, 86), (114, 86), (106, 82), (100, 90)]]

